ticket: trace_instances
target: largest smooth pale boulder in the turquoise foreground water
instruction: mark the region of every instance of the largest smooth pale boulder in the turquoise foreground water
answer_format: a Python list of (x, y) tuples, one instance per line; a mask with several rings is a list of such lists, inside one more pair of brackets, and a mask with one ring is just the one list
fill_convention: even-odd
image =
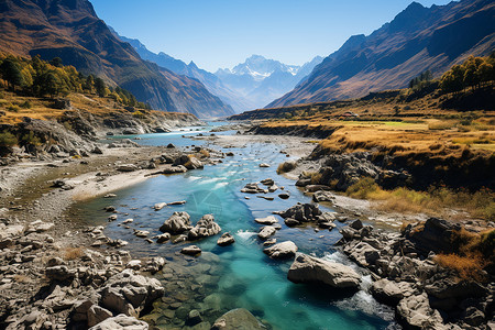
[(287, 278), (294, 283), (326, 284), (348, 289), (356, 289), (361, 283), (361, 276), (351, 267), (304, 253), (296, 256)]

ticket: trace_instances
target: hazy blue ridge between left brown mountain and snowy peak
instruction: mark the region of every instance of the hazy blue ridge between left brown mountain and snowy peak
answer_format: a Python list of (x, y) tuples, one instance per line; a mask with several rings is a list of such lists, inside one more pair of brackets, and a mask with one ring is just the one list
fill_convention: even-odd
[(151, 52), (136, 38), (129, 38), (118, 34), (114, 30), (112, 32), (121, 41), (131, 44), (140, 54), (141, 58), (153, 62), (161, 67), (164, 67), (177, 75), (187, 76), (199, 80), (212, 95), (218, 96), (224, 103), (231, 106), (235, 112), (254, 109), (255, 106), (249, 99), (244, 98), (239, 92), (228, 88), (216, 75), (199, 68), (193, 61), (189, 64), (180, 59), (176, 59), (164, 52), (158, 54)]

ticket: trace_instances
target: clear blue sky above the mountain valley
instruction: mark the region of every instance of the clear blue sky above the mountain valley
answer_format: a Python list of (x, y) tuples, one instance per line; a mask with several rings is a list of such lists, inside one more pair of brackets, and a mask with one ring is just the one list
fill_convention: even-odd
[[(216, 72), (252, 54), (301, 65), (370, 34), (411, 0), (90, 0), (99, 18), (150, 51)], [(446, 0), (418, 0), (425, 7)]]

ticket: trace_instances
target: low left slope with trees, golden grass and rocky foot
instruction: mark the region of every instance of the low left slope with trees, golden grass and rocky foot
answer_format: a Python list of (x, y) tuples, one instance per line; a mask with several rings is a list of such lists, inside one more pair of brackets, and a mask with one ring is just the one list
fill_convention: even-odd
[[(153, 111), (119, 86), (51, 63), (0, 55), (0, 156), (90, 145), (105, 132), (164, 132), (200, 123), (189, 113)], [(58, 148), (55, 148), (58, 150)]]

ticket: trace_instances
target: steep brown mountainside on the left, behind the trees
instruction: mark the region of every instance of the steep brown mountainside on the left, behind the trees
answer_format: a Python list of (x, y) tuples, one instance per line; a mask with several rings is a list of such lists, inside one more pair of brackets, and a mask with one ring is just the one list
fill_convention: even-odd
[(87, 0), (1, 1), (0, 34), (0, 52), (61, 57), (84, 74), (130, 90), (155, 109), (200, 118), (233, 113), (198, 80), (142, 61), (131, 45), (111, 33)]

